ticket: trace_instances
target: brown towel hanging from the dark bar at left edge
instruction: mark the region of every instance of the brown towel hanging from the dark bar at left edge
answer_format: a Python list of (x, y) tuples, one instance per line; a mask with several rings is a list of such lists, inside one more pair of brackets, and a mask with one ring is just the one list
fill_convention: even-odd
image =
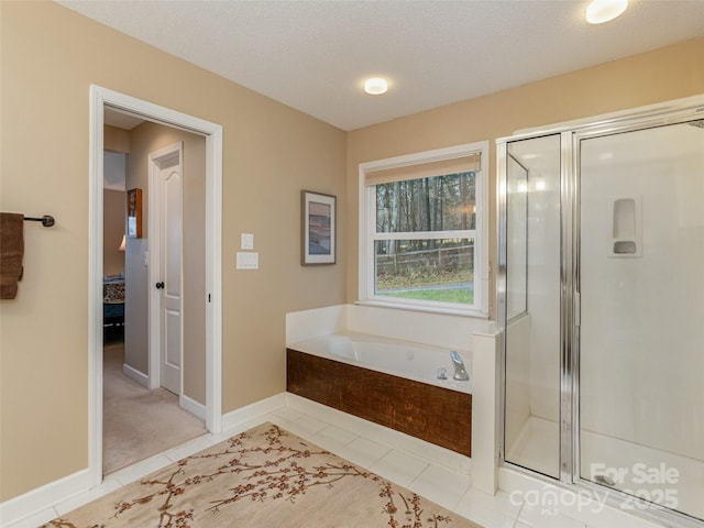
[(0, 212), (0, 299), (18, 296), (24, 255), (24, 215)]

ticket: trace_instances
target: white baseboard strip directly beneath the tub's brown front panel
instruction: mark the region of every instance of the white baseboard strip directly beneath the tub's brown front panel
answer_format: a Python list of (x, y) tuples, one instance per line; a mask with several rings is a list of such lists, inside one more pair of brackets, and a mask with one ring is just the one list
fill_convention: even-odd
[(380, 426), (373, 421), (358, 418), (356, 416), (342, 413), (341, 410), (292, 393), (286, 393), (286, 405), (292, 409), (299, 410), (314, 418), (318, 417), (322, 421), (341, 429), (354, 431), (376, 442), (393, 446), (394, 449), (413, 453), (428, 462), (444, 465), (461, 473), (471, 473), (472, 459), (449, 449), (426, 442), (425, 440), (389, 429), (388, 427)]

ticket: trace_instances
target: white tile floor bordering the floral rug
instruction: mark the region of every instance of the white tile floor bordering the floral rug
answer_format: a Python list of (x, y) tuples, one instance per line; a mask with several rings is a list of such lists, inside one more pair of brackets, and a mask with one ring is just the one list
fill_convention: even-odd
[[(428, 463), (407, 452), (392, 448), (352, 430), (333, 426), (292, 407), (280, 407), (223, 431), (205, 435), (183, 446), (108, 475), (103, 483), (80, 496), (47, 507), (11, 528), (36, 528), (62, 514), (68, 513), (103, 494), (168, 465), (186, 455), (196, 453), (233, 435), (245, 431), (264, 421), (276, 424), (286, 430), (310, 440), (336, 454), (362, 465), (376, 474), (405, 486), (441, 506), (466, 517), (485, 528), (656, 528), (659, 525), (626, 515), (614, 508), (600, 513), (584, 508), (565, 507), (556, 510), (520, 501), (520, 494), (499, 491), (491, 496), (471, 488), (471, 480), (450, 468)], [(255, 527), (254, 527), (255, 528)]]

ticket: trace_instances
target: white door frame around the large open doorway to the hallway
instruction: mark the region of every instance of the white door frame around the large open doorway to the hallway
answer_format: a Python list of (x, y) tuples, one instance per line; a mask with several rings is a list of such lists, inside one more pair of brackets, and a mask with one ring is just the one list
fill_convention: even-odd
[(102, 482), (102, 174), (105, 107), (206, 138), (206, 429), (222, 428), (222, 125), (97, 85), (89, 97), (88, 472)]

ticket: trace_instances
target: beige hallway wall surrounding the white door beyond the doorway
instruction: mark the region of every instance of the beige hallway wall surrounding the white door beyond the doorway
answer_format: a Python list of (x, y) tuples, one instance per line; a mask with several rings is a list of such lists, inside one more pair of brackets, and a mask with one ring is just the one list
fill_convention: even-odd
[(206, 140), (145, 122), (129, 132), (127, 188), (142, 189), (142, 238), (127, 242), (124, 361), (148, 375), (148, 155), (183, 142), (184, 148), (184, 394), (206, 403)]

